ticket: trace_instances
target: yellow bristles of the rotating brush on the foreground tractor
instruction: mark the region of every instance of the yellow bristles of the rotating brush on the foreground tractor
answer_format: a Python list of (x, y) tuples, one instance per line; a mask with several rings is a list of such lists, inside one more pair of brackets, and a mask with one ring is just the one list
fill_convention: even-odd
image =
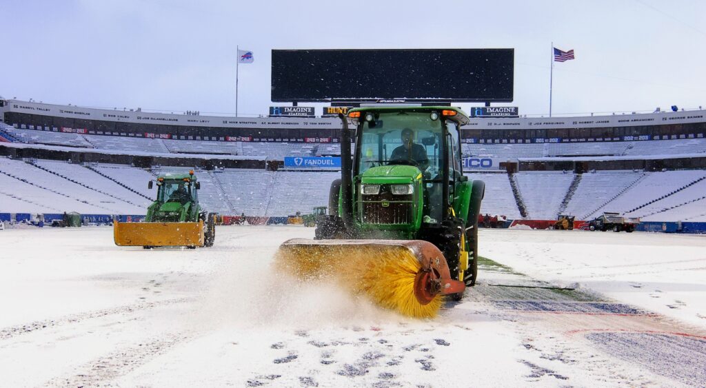
[(300, 245), (280, 248), (277, 265), (307, 281), (334, 279), (383, 308), (416, 318), (436, 317), (443, 298), (422, 305), (414, 296), (419, 261), (395, 245)]

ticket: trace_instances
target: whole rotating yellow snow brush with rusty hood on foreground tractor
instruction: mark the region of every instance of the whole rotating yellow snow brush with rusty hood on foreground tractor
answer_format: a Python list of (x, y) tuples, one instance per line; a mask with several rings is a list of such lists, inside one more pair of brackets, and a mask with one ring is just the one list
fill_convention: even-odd
[(426, 241), (292, 239), (276, 265), (304, 281), (331, 279), (383, 308), (417, 318), (435, 317), (443, 295), (463, 292), (436, 246)]

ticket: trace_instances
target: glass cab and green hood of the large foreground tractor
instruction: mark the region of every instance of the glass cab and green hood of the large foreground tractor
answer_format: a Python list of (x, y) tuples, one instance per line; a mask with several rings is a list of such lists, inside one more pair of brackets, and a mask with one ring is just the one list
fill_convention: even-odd
[(352, 175), (359, 226), (412, 238), (422, 223), (441, 224), (457, 183), (467, 181), (458, 129), (467, 116), (450, 107), (384, 107), (352, 109), (349, 117), (357, 121)]

